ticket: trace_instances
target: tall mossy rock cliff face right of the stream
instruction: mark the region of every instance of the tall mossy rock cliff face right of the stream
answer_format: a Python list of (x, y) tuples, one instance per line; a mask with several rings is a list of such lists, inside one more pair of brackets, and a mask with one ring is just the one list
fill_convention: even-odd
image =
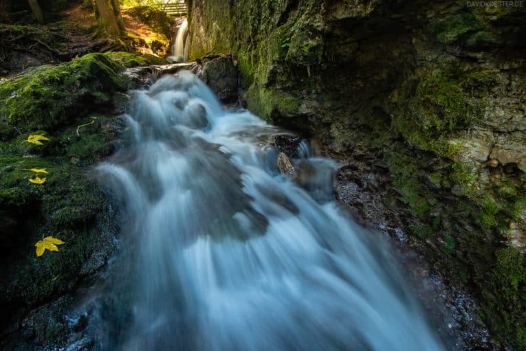
[(251, 111), (386, 172), (410, 242), (525, 348), (526, 4), (188, 5), (190, 58), (233, 54)]

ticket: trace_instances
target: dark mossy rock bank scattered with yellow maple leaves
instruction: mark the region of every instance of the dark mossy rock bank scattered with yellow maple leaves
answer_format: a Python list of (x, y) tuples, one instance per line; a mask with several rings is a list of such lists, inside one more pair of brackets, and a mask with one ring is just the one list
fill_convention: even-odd
[[(116, 249), (115, 214), (89, 166), (119, 142), (114, 103), (125, 99), (122, 92), (129, 87), (119, 62), (143, 60), (88, 54), (0, 82), (3, 332), (17, 330), (23, 313), (74, 288)], [(50, 141), (28, 142), (30, 134), (43, 133)], [(31, 168), (45, 168), (47, 174)], [(30, 183), (37, 175), (45, 183)], [(34, 245), (43, 236), (65, 244), (37, 257)]]

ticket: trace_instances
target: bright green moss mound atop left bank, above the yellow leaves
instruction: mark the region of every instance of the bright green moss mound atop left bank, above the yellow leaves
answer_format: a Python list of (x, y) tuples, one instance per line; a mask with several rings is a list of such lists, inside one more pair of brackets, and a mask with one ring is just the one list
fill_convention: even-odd
[[(87, 54), (61, 65), (28, 69), (0, 85), (0, 115), (22, 133), (50, 130), (72, 113), (82, 113), (83, 105), (106, 102), (114, 91), (126, 89), (122, 68), (108, 56)], [(0, 126), (0, 135), (14, 134), (14, 129)]]

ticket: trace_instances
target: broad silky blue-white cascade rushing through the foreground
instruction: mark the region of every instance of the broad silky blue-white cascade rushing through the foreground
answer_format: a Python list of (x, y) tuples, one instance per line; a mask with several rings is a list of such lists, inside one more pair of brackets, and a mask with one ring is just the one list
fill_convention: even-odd
[(301, 186), (279, 174), (278, 128), (186, 71), (136, 91), (126, 120), (97, 169), (124, 221), (96, 350), (443, 349), (382, 237), (338, 210), (333, 161), (303, 144)]

